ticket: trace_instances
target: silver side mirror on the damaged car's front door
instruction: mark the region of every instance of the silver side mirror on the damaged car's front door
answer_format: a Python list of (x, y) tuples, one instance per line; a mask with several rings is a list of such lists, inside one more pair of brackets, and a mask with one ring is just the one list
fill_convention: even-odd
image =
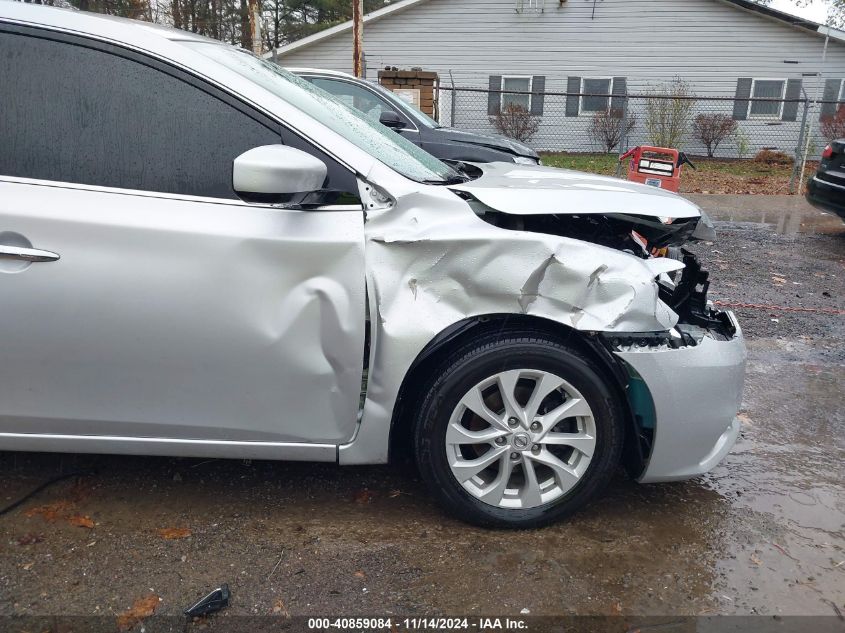
[(328, 168), (319, 158), (287, 145), (262, 145), (238, 156), (232, 186), (245, 199), (270, 201), (323, 187)]

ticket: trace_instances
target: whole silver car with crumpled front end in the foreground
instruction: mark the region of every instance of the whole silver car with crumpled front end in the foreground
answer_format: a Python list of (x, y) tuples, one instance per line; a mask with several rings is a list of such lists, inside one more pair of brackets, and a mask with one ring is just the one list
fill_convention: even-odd
[(736, 440), (736, 319), (632, 236), (693, 237), (683, 198), (458, 171), (185, 31), (5, 2), (0, 50), (0, 449), (410, 451), (451, 512), (528, 527)]

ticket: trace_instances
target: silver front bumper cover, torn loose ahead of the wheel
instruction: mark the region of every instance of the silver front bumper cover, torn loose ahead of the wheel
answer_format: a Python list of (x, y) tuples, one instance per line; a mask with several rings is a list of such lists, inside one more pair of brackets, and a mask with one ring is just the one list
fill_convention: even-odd
[(705, 336), (697, 345), (678, 349), (614, 352), (640, 375), (654, 404), (652, 448), (641, 483), (705, 473), (736, 442), (746, 350), (736, 318), (727, 314), (735, 330), (729, 340)]

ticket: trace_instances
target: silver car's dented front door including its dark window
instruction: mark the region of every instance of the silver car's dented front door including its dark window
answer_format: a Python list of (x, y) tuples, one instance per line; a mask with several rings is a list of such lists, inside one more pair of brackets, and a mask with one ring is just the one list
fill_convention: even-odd
[[(256, 146), (322, 155), (150, 57), (29, 27), (0, 41), (17, 60), (0, 62), (17, 86), (0, 104), (31, 122), (2, 135), (0, 436), (168, 454), (308, 442), (268, 451), (334, 459), (360, 397), (360, 204), (246, 201), (232, 181)], [(355, 189), (329, 169), (327, 187)]]

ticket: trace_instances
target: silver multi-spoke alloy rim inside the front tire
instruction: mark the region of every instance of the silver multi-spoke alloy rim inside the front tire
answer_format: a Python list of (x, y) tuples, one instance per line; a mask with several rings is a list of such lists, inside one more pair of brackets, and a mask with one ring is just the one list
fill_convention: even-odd
[(534, 508), (572, 490), (596, 449), (584, 396), (553, 373), (503, 371), (481, 381), (449, 419), (446, 452), (455, 479), (484, 503)]

